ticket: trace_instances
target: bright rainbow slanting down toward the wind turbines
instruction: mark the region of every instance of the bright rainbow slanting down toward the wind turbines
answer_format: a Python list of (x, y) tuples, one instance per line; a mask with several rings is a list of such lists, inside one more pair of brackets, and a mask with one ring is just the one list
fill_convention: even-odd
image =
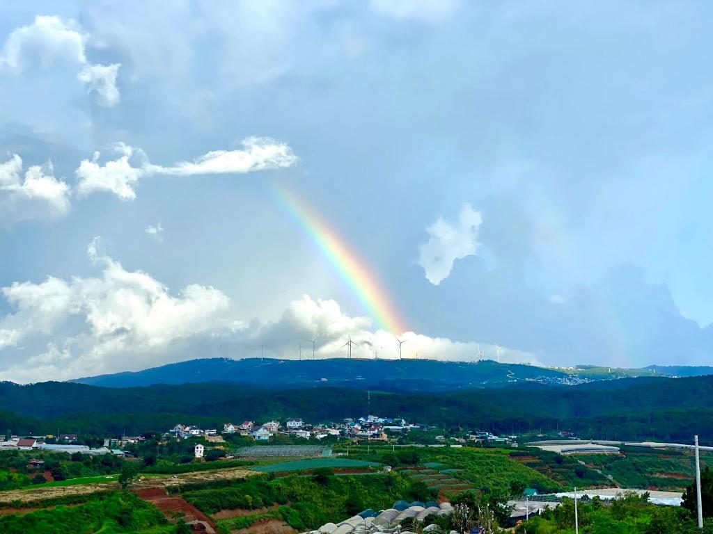
[(344, 283), (382, 330), (394, 335), (406, 332), (401, 316), (382, 286), (379, 276), (349, 247), (347, 241), (297, 195), (277, 187), (277, 198), (304, 234), (322, 251)]

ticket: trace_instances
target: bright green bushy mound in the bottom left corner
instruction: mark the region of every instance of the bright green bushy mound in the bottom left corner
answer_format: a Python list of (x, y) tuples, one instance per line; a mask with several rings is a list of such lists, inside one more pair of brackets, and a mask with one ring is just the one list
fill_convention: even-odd
[(132, 493), (113, 492), (95, 496), (80, 506), (56, 508), (25, 514), (0, 515), (3, 534), (56, 533), (175, 533), (157, 508)]

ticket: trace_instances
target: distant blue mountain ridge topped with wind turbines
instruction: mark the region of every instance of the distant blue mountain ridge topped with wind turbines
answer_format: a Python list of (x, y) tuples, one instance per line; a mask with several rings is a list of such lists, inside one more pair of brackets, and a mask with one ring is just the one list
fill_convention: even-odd
[(137, 372), (120, 372), (72, 380), (103, 387), (224, 382), (265, 389), (349, 387), (382, 391), (448, 391), (513, 384), (572, 385), (632, 377), (713, 375), (713, 367), (615, 369), (582, 366), (553, 369), (520, 364), (443, 362), (438, 360), (275, 360), (271, 358), (209, 358), (189, 360)]

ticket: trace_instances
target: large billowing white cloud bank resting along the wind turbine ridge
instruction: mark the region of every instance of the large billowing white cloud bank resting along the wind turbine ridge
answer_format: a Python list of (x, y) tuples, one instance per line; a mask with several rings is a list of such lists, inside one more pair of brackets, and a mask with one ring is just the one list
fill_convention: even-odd
[[(69, 379), (206, 355), (258, 355), (261, 345), (267, 356), (294, 359), (302, 344), (304, 357), (309, 357), (314, 337), (318, 358), (346, 356), (348, 336), (356, 342), (353, 357), (398, 355), (393, 335), (372, 331), (369, 318), (347, 315), (334, 300), (304, 295), (274, 322), (245, 322), (236, 319), (230, 299), (220, 290), (192, 284), (172, 295), (148, 273), (128, 271), (101, 253), (98, 238), (87, 253), (101, 268), (98, 276), (48, 277), (0, 290), (13, 309), (0, 318), (0, 380)], [(474, 342), (413, 332), (401, 339), (406, 339), (403, 356), (409, 358), (473, 361), (478, 349)], [(9, 352), (21, 343), (25, 350)], [(217, 352), (219, 345), (232, 352)], [(495, 359), (493, 345), (479, 346), (484, 357)], [(538, 363), (533, 355), (514, 349), (504, 353), (503, 362)]]

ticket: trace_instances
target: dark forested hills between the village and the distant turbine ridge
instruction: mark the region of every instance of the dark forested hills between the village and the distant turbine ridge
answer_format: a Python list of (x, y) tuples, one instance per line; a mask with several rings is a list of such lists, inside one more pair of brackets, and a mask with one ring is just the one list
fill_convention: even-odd
[[(455, 392), (379, 392), (352, 388), (265, 389), (208, 383), (108, 388), (68, 382), (0, 384), (0, 429), (41, 432), (160, 431), (178, 420), (302, 417), (337, 421), (367, 411), (411, 422), (522, 432), (568, 428), (583, 437), (713, 440), (713, 377), (665, 377), (573, 387), (511, 384)], [(370, 404), (369, 404), (370, 402)], [(369, 410), (370, 409), (370, 410)], [(653, 429), (653, 430), (652, 430)]]

